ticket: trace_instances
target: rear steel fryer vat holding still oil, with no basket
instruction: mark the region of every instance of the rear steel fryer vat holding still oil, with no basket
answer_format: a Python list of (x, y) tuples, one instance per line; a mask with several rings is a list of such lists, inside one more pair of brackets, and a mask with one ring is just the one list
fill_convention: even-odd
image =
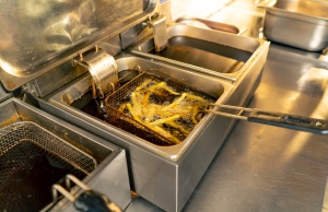
[(168, 47), (159, 54), (153, 50), (152, 36), (134, 45), (131, 54), (207, 75), (237, 81), (269, 46), (269, 43), (260, 39), (184, 24), (169, 26), (167, 38)]

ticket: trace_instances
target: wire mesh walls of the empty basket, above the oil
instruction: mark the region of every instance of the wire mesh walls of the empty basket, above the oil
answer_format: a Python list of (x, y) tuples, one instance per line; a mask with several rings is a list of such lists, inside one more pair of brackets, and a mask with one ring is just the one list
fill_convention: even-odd
[[(15, 145), (20, 145), (21, 151), (7, 155)], [(0, 164), (0, 184), (8, 177), (8, 170), (17, 168), (24, 161), (37, 154), (49, 155), (55, 161), (65, 163), (63, 166), (80, 169), (84, 174), (96, 167), (92, 156), (34, 122), (21, 121), (0, 129), (0, 161), (7, 160), (5, 164)]]

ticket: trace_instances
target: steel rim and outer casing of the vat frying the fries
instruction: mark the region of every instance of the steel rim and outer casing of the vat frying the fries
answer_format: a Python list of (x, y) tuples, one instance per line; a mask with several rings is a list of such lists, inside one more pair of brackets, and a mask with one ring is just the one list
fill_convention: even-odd
[[(267, 51), (262, 54), (260, 63), (250, 66), (253, 71), (245, 72), (234, 85), (142, 58), (127, 56), (116, 61), (119, 72), (132, 69), (136, 64), (142, 69), (159, 69), (216, 96), (216, 103), (245, 105), (259, 84)], [(90, 89), (91, 76), (86, 74), (69, 86), (56, 91), (49, 98), (39, 99), (39, 104), (46, 111), (126, 149), (132, 189), (166, 211), (180, 211), (235, 120), (207, 115), (183, 143), (160, 146), (81, 111), (80, 107), (91, 101), (91, 96), (83, 96)], [(74, 106), (77, 99), (79, 104)]]

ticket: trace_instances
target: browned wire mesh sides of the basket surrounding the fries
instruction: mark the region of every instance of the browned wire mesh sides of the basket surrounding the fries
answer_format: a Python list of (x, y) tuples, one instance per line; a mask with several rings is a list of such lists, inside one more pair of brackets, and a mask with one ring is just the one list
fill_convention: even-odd
[(140, 86), (147, 79), (156, 79), (159, 81), (164, 81), (168, 86), (173, 87), (178, 92), (188, 92), (194, 95), (201, 96), (209, 101), (210, 103), (214, 103), (215, 98), (181, 82), (177, 79), (174, 79), (165, 73), (162, 73), (155, 69), (149, 69), (143, 71), (141, 74), (136, 76), (133, 80), (121, 86), (116, 92), (108, 95), (105, 99), (105, 110), (107, 113), (106, 120), (137, 137), (140, 137), (153, 144), (169, 146), (175, 145), (173, 141), (163, 137), (162, 134), (155, 132), (154, 130), (148, 128), (145, 125), (134, 120), (132, 117), (127, 116), (126, 114), (118, 110), (120, 105), (129, 98), (132, 91), (134, 91), (138, 86)]

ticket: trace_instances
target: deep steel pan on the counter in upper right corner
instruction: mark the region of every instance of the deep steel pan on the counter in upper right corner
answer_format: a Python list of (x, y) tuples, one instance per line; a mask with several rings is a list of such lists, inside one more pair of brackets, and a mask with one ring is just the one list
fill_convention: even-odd
[(270, 0), (258, 7), (266, 9), (263, 33), (268, 39), (309, 51), (328, 46), (327, 1)]

